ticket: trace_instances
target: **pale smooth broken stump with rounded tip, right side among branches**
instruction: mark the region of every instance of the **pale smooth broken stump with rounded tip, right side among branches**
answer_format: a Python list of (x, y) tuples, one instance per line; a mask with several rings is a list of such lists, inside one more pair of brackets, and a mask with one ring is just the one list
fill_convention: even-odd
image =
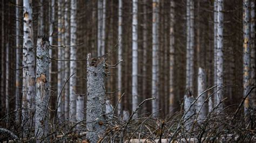
[[(206, 74), (204, 69), (199, 67), (198, 69), (198, 95), (201, 95), (206, 90)], [(201, 123), (203, 119), (207, 116), (207, 104), (205, 103), (207, 99), (207, 92), (201, 95), (197, 99), (197, 109), (198, 121)]]

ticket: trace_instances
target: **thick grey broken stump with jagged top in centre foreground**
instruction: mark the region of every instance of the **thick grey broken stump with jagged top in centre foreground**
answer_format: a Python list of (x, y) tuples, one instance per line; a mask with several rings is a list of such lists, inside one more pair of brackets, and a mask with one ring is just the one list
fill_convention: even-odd
[(91, 59), (91, 54), (87, 55), (86, 138), (89, 142), (98, 142), (106, 130), (104, 68), (103, 58)]

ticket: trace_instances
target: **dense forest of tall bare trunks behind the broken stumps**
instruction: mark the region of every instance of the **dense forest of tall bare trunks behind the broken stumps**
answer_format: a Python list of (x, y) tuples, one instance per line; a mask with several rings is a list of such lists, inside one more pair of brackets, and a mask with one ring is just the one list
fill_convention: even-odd
[[(31, 76), (24, 73), (30, 69), (25, 51), (34, 48), (34, 55), (28, 55), (36, 58), (37, 39), (43, 34), (50, 41), (51, 119), (56, 113), (61, 121), (86, 118), (88, 53), (104, 57), (106, 108), (117, 108), (118, 117), (156, 97), (138, 115), (156, 112), (154, 117), (166, 119), (184, 109), (184, 95), (198, 97), (215, 85), (206, 91), (206, 98), (213, 96), (204, 108), (210, 112), (221, 95), (224, 109), (234, 112), (255, 85), (254, 0), (23, 1), (1, 0), (3, 128), (14, 130), (23, 122), (24, 100), (30, 104), (24, 87), (31, 83), (24, 80)], [(26, 47), (26, 38), (32, 47)], [(203, 85), (199, 68), (205, 73)], [(255, 90), (244, 101), (254, 113)]]

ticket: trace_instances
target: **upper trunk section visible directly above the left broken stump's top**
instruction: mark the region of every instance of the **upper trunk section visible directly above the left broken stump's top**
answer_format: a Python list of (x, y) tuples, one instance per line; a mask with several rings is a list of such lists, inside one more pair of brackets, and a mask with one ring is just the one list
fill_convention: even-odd
[(44, 1), (40, 0), (39, 2), (39, 15), (38, 15), (38, 28), (37, 28), (37, 35), (44, 34)]

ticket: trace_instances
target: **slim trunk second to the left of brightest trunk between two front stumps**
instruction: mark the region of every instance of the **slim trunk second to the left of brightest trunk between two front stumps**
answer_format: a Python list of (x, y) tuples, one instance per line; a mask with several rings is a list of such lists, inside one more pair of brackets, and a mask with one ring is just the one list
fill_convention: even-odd
[[(63, 21), (62, 21), (62, 10), (63, 8), (63, 0), (58, 0), (58, 45), (62, 45), (62, 34), (63, 34)], [(63, 60), (63, 47), (58, 47), (58, 59)], [(58, 111), (58, 118), (60, 121), (64, 120), (64, 95), (63, 92), (61, 92), (62, 87), (64, 85), (64, 72), (63, 72), (63, 61), (58, 61), (58, 83), (57, 83), (57, 94), (58, 94), (58, 105), (57, 105), (57, 111)], [(61, 93), (60, 93), (61, 92)]]

